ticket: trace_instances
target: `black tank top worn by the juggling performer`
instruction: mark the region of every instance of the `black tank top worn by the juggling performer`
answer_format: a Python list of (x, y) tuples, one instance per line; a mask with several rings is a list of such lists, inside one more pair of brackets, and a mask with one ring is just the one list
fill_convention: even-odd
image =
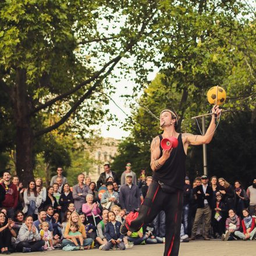
[[(162, 157), (163, 150), (161, 148), (161, 141), (163, 139), (162, 135), (159, 135), (160, 138), (160, 157)], [(166, 160), (163, 166), (158, 169), (153, 174), (153, 179), (155, 181), (160, 181), (166, 185), (171, 187), (175, 187), (176, 189), (183, 190), (185, 176), (186, 176), (186, 154), (184, 152), (183, 143), (182, 143), (182, 134), (180, 133), (178, 136), (178, 146), (173, 148), (170, 153), (170, 157)]]

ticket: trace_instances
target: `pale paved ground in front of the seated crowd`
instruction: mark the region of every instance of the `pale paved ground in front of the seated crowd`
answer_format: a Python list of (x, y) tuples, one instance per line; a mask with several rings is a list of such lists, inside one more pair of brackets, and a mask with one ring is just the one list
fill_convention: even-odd
[[(30, 253), (27, 256), (162, 256), (163, 244), (148, 244), (134, 246), (125, 251), (99, 251), (98, 249), (84, 251), (47, 251)], [(15, 256), (24, 254), (19, 253)], [(190, 241), (180, 244), (179, 256), (256, 256), (256, 241)]]

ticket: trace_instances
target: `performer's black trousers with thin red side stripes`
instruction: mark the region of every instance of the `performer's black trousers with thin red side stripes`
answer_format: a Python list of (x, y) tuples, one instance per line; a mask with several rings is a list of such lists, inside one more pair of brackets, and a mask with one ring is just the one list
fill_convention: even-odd
[(138, 217), (131, 222), (129, 230), (136, 232), (144, 223), (151, 223), (160, 211), (165, 211), (165, 253), (164, 256), (179, 255), (180, 226), (182, 225), (183, 190), (165, 193), (153, 181), (145, 200), (140, 206)]

